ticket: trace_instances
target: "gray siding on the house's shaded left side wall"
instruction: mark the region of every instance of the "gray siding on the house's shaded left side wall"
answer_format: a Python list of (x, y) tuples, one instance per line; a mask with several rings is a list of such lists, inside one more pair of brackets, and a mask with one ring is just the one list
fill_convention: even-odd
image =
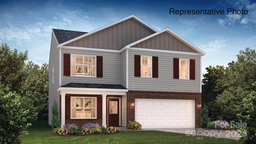
[[(52, 34), (51, 49), (50, 49), (50, 60), (49, 60), (49, 102), (48, 102), (48, 124), (52, 125), (52, 108), (54, 102), (57, 103), (58, 107), (60, 104), (60, 93), (57, 91), (59, 88), (59, 49), (57, 48), (58, 43)], [(52, 84), (52, 66), (54, 66), (54, 83)]]

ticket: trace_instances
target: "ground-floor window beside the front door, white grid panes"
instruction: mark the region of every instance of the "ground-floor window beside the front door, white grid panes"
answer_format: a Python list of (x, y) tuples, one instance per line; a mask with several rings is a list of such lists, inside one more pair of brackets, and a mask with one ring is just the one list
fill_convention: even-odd
[(71, 97), (71, 118), (96, 119), (96, 97)]

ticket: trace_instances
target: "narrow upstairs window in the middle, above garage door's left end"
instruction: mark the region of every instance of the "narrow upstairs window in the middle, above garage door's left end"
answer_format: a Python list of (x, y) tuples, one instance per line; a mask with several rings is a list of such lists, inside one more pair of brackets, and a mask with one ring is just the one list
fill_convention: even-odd
[(140, 76), (152, 77), (152, 57), (141, 56), (140, 58)]

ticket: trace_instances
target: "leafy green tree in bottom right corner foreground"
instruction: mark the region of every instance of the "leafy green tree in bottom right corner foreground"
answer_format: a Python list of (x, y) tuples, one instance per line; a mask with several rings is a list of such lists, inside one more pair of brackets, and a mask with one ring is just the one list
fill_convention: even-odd
[[(256, 86), (254, 82), (253, 86)], [(240, 140), (244, 143), (255, 144), (256, 143), (256, 92), (251, 91), (246, 97), (242, 99), (242, 106), (244, 113), (239, 113), (238, 116), (246, 122), (247, 126), (239, 128), (238, 130), (244, 135)]]

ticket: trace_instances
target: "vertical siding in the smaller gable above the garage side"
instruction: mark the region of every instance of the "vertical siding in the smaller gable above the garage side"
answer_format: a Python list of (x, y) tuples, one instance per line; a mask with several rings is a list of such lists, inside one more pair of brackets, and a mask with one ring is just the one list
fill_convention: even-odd
[(166, 31), (133, 45), (132, 47), (196, 53), (195, 50), (191, 49), (188, 45), (182, 43), (182, 41), (179, 41), (176, 37)]

